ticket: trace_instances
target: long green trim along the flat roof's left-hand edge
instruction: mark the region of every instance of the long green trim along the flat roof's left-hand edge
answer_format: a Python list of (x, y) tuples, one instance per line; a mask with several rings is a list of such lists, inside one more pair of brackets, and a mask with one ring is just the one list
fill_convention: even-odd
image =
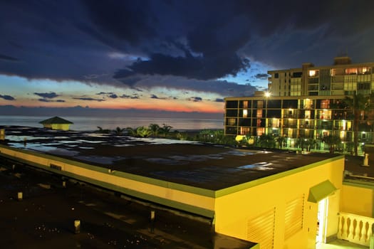
[[(0, 144), (0, 148), (1, 147), (4, 147), (5, 149), (14, 150), (16, 152), (24, 153), (24, 154), (31, 154), (35, 157), (43, 157), (45, 159), (60, 161), (64, 164), (71, 164), (73, 166), (79, 166), (79, 167), (84, 168), (84, 169), (90, 169), (90, 170), (98, 171), (98, 172), (105, 173), (105, 174), (112, 174), (112, 175), (115, 175), (115, 176), (120, 176), (120, 177), (130, 179), (130, 180), (133, 180), (133, 181), (140, 181), (140, 182), (145, 183), (145, 184), (162, 186), (162, 187), (165, 187), (165, 188), (168, 188), (168, 189), (184, 191), (184, 192), (187, 192), (187, 193), (190, 193), (190, 194), (197, 194), (199, 196), (207, 196), (207, 197), (212, 197), (212, 198), (214, 198), (214, 196), (215, 196), (215, 194), (214, 194), (215, 192), (212, 191), (212, 190), (209, 190), (209, 189), (202, 189), (202, 188), (198, 188), (198, 187), (194, 187), (194, 186), (188, 186), (188, 185), (185, 185), (185, 184), (177, 184), (177, 183), (173, 183), (173, 182), (170, 182), (170, 181), (153, 179), (153, 178), (150, 178), (150, 177), (147, 177), (147, 176), (130, 174), (130, 173), (126, 173), (126, 172), (123, 172), (123, 171), (112, 171), (112, 173), (109, 173), (109, 171), (108, 171), (109, 168), (106, 168), (106, 167), (94, 166), (94, 165), (91, 165), (91, 164), (82, 163), (80, 161), (73, 161), (71, 159), (56, 157), (56, 156), (52, 156), (52, 155), (49, 155), (49, 154), (42, 154), (42, 153), (39, 153), (39, 152), (31, 152), (31, 151), (28, 151), (28, 150), (25, 150), (25, 149), (7, 147), (7, 146), (4, 146), (4, 145)], [(12, 159), (14, 159), (16, 161), (22, 161), (22, 162), (27, 163), (27, 164), (33, 164), (32, 161), (27, 161), (27, 160), (24, 160), (24, 159), (21, 159), (21, 158), (18, 158), (18, 157), (13, 157), (13, 156), (10, 156), (10, 155), (7, 155), (7, 154), (2, 154), (1, 150), (0, 150), (0, 154), (2, 156), (11, 157)], [(48, 166), (48, 170), (49, 169), (50, 168)]]

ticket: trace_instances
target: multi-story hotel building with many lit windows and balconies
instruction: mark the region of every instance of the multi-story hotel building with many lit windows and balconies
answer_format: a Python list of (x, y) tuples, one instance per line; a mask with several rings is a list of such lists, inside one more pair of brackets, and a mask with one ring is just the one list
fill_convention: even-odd
[[(311, 138), (316, 149), (324, 149), (322, 137), (332, 134), (341, 138), (340, 149), (352, 146), (353, 108), (343, 100), (374, 92), (374, 63), (353, 64), (348, 57), (338, 57), (334, 65), (303, 63), (301, 68), (268, 73), (268, 97), (256, 92), (254, 97), (225, 98), (227, 136), (273, 134), (286, 137), (286, 147), (295, 147), (298, 138)], [(360, 145), (373, 142), (373, 122), (373, 112), (360, 113)]]

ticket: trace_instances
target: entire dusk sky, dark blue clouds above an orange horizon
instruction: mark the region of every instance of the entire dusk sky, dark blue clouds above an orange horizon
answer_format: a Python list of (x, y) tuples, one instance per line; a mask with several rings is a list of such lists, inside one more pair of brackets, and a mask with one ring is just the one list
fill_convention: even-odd
[(373, 0), (1, 0), (0, 110), (221, 117), (268, 70), (374, 62), (373, 41)]

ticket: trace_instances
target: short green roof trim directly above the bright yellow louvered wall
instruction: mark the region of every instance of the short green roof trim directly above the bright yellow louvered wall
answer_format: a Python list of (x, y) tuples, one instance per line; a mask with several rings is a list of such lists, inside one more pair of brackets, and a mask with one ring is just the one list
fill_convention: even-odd
[(291, 175), (296, 174), (298, 172), (306, 171), (308, 169), (313, 169), (317, 166), (321, 166), (323, 164), (328, 164), (332, 161), (337, 161), (339, 159), (344, 159), (344, 155), (337, 155), (336, 157), (325, 159), (325, 160), (322, 160), (322, 161), (317, 161), (313, 164), (308, 164), (306, 166), (301, 166), (301, 167), (298, 167), (296, 169), (290, 169), (288, 171), (280, 172), (278, 174), (273, 174), (271, 176), (266, 176), (264, 178), (249, 181), (249, 182), (246, 182), (244, 184), (239, 184), (237, 186), (232, 186), (232, 187), (229, 187), (227, 189), (221, 189), (221, 190), (216, 191), (216, 196), (215, 197), (217, 198), (217, 197), (226, 196), (228, 194), (233, 194), (233, 193), (242, 191), (244, 189), (249, 189), (249, 188), (252, 188), (254, 186), (259, 186), (261, 184), (265, 184), (269, 181), (274, 181), (276, 179), (281, 179), (281, 178), (286, 177), (286, 176), (291, 176)]

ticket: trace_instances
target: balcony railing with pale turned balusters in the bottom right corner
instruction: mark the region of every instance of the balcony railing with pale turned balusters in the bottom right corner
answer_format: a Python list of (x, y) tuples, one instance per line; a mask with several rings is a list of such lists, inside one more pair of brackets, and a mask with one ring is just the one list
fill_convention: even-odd
[(338, 239), (348, 240), (359, 245), (370, 245), (373, 235), (374, 218), (353, 213), (339, 213)]

